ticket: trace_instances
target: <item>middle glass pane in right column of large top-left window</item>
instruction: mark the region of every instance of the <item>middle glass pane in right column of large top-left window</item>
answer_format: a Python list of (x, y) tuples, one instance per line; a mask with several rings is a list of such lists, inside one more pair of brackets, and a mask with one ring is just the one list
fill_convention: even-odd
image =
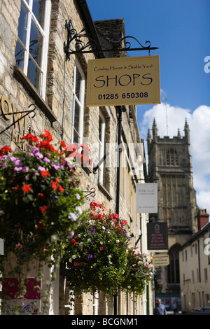
[(34, 23), (34, 20), (31, 20), (31, 35), (30, 35), (30, 47), (29, 52), (34, 58), (38, 66), (41, 66), (41, 50), (43, 45), (43, 36), (41, 35), (38, 27)]

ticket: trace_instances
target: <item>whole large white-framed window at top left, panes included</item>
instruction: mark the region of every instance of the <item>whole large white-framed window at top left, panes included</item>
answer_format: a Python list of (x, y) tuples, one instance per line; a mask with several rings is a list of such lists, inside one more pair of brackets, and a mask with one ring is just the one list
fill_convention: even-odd
[(21, 0), (16, 65), (45, 99), (51, 0)]

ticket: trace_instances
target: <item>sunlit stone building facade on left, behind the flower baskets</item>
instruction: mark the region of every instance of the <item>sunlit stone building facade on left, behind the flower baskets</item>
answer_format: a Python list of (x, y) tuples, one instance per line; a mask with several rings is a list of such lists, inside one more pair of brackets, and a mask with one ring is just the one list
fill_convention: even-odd
[[(118, 108), (85, 106), (88, 59), (104, 54), (80, 53), (66, 58), (64, 52), (66, 22), (71, 20), (76, 31), (85, 27), (100, 47), (107, 42), (106, 36), (102, 36), (105, 23), (94, 25), (86, 1), (80, 0), (0, 0), (0, 18), (0, 147), (7, 145), (15, 151), (27, 132), (38, 135), (48, 130), (55, 142), (87, 144), (94, 165), (99, 163), (105, 151), (109, 151), (109, 158), (97, 172), (81, 169), (83, 190), (95, 189), (94, 197), (85, 198), (84, 207), (87, 208), (90, 201), (97, 201), (115, 211), (117, 166), (113, 159), (116, 159)], [(120, 31), (124, 33), (123, 20), (112, 24), (116, 25), (115, 33), (117, 29), (119, 34)], [(34, 111), (26, 112), (30, 110)], [(132, 163), (137, 164), (137, 171), (133, 171), (129, 161), (122, 168), (119, 212), (128, 221), (132, 244), (137, 243), (141, 251), (147, 252), (147, 215), (140, 216), (135, 211), (135, 186), (138, 179), (144, 179), (137, 147), (141, 139), (135, 106), (127, 106), (123, 112), (121, 156), (125, 155), (127, 159), (126, 146), (129, 144), (134, 145), (130, 156)], [(45, 269), (45, 277), (49, 275), (50, 269)], [(57, 270), (49, 314), (68, 314), (68, 303), (65, 285)], [(122, 292), (118, 294), (118, 314), (152, 314), (152, 309), (152, 284), (135, 304), (132, 300), (126, 303)], [(113, 301), (108, 304), (102, 299), (96, 306), (90, 296), (84, 295), (82, 302), (75, 305), (74, 314), (113, 314)]]

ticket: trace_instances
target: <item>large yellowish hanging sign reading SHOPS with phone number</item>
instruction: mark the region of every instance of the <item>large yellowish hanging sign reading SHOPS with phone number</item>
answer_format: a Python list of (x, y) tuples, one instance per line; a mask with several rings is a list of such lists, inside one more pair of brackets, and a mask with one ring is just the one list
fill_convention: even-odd
[(89, 59), (87, 106), (160, 104), (159, 56)]

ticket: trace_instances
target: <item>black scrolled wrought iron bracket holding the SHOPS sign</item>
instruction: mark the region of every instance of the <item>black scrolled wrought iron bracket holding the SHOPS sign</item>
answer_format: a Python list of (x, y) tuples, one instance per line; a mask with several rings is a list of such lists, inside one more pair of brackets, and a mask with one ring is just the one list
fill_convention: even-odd
[[(94, 41), (91, 36), (87, 34), (85, 28), (77, 32), (76, 29), (73, 28), (71, 20), (69, 20), (69, 23), (66, 20), (65, 27), (67, 29), (67, 41), (64, 42), (66, 61), (70, 59), (71, 54), (148, 50), (148, 54), (150, 55), (151, 50), (158, 49), (158, 47), (151, 47), (150, 41), (146, 41), (145, 46), (142, 45), (134, 36), (124, 36), (122, 38), (121, 33), (118, 42), (109, 40), (111, 48), (102, 49), (102, 45)], [(131, 42), (128, 40), (136, 41), (140, 47), (131, 48)]]

